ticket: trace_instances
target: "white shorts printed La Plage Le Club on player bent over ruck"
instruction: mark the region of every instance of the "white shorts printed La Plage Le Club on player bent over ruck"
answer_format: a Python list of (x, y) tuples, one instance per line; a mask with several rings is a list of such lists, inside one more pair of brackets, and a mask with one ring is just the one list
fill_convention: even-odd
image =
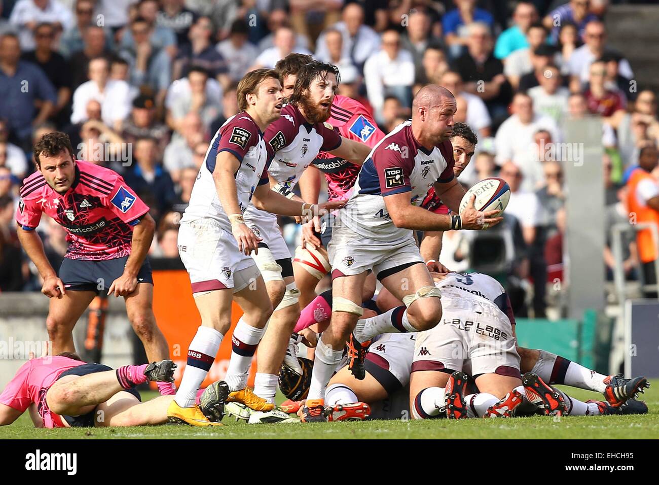
[(463, 371), (520, 377), (513, 327), (494, 304), (474, 298), (442, 298), (442, 321), (416, 334), (412, 372)]

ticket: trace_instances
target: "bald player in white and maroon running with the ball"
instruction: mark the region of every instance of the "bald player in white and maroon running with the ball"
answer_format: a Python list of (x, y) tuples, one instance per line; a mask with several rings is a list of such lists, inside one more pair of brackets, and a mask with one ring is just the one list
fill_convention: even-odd
[[(418, 205), (435, 187), (457, 212), (465, 193), (453, 175), (455, 98), (434, 84), (413, 102), (412, 119), (376, 145), (359, 172), (346, 207), (337, 212), (328, 253), (332, 267), (332, 317), (315, 351), (304, 421), (324, 421), (324, 393), (345, 343), (362, 315), (362, 287), (368, 271), (405, 306), (373, 317), (377, 333), (415, 332), (434, 327), (442, 316), (440, 293), (422, 263), (413, 230), (484, 229), (498, 224), (496, 211), (480, 212), (473, 200), (461, 215), (434, 214)], [(406, 308), (407, 307), (407, 308)], [(368, 342), (351, 338), (349, 352), (358, 379)]]

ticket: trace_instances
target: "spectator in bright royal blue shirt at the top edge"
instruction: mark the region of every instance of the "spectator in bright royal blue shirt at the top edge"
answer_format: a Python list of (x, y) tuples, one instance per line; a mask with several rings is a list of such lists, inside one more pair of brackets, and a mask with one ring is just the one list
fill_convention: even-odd
[(453, 0), (457, 9), (448, 11), (442, 17), (442, 30), (447, 46), (449, 46), (449, 55), (459, 57), (465, 46), (469, 46), (471, 32), (468, 28), (474, 22), (481, 22), (489, 28), (494, 27), (494, 18), (483, 9), (476, 7), (476, 0)]

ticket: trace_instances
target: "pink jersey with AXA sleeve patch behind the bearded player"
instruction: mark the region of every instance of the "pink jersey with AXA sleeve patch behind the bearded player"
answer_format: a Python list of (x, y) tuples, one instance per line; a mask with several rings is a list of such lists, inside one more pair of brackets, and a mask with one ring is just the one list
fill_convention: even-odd
[[(371, 148), (384, 138), (384, 133), (364, 105), (353, 98), (337, 94), (330, 111), (328, 123), (338, 129), (342, 137), (364, 143)], [(312, 165), (325, 175), (330, 201), (345, 199), (361, 168), (329, 152), (320, 152)]]

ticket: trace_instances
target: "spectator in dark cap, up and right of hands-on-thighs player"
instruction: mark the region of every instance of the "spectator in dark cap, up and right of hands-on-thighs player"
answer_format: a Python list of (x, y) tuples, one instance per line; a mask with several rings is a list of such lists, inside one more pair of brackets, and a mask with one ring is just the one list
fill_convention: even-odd
[(143, 94), (132, 100), (130, 116), (121, 125), (121, 137), (134, 145), (140, 138), (158, 141), (158, 158), (163, 156), (169, 143), (169, 128), (156, 118), (156, 101)]

